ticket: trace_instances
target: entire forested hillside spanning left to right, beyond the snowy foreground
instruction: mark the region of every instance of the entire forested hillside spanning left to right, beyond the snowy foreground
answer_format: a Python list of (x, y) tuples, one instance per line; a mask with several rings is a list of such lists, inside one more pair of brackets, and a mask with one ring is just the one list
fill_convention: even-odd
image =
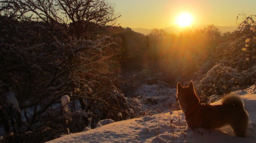
[(105, 0), (0, 2), (1, 142), (143, 116), (133, 94), (142, 84), (193, 81), (206, 101), (256, 81), (254, 16), (232, 33), (209, 25), (149, 35), (118, 26), (119, 17)]

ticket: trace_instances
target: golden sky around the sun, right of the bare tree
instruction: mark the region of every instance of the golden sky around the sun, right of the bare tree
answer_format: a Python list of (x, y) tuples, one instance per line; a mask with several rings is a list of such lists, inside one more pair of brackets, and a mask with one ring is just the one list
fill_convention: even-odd
[(194, 25), (238, 25), (245, 14), (256, 15), (256, 0), (108, 0), (120, 14), (117, 24), (130, 28), (166, 28), (176, 24), (182, 12)]

